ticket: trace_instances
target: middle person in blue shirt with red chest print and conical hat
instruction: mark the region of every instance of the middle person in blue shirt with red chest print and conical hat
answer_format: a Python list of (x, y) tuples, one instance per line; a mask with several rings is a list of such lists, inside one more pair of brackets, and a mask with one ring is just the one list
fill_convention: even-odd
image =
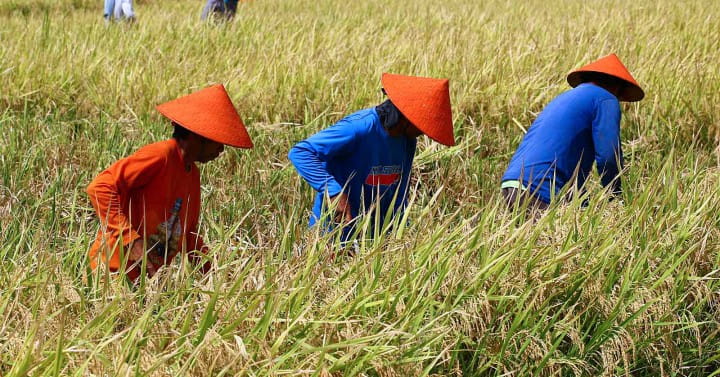
[(326, 218), (344, 224), (344, 238), (360, 216), (384, 220), (402, 212), (417, 137), (455, 145), (448, 80), (385, 73), (381, 81), (387, 101), (348, 115), (290, 150), (290, 161), (317, 191), (310, 226), (327, 210), (327, 198), (334, 213)]

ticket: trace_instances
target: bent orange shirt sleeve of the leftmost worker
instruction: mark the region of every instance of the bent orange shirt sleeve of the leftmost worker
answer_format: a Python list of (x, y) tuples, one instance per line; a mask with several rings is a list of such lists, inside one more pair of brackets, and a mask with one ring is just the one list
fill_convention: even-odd
[(140, 238), (124, 210), (128, 193), (150, 182), (164, 163), (162, 155), (141, 150), (116, 162), (90, 183), (86, 192), (107, 238), (122, 238), (123, 245)]

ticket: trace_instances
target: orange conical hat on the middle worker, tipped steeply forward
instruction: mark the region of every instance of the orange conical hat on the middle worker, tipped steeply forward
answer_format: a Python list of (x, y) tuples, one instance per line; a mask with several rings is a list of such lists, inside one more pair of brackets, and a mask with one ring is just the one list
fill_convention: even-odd
[(440, 144), (455, 145), (447, 79), (383, 73), (381, 81), (390, 101), (410, 123)]

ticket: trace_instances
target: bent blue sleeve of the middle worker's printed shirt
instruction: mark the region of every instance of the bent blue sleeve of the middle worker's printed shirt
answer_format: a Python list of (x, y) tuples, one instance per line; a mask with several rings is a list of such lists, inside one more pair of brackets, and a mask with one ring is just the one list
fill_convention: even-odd
[(330, 128), (297, 143), (288, 154), (300, 176), (315, 191), (335, 196), (343, 186), (327, 170), (327, 162), (353, 152), (357, 142), (357, 127), (352, 122), (340, 121)]

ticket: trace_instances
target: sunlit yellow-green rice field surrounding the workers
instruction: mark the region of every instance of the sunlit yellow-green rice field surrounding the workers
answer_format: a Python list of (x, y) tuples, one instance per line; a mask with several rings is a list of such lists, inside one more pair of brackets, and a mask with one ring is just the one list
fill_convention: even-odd
[[(0, 0), (0, 375), (720, 375), (720, 2), (202, 6), (106, 25), (101, 0)], [(647, 93), (623, 104), (623, 200), (595, 179), (586, 208), (507, 213), (523, 132), (612, 52)], [(330, 259), (287, 152), (382, 101), (382, 72), (449, 78), (458, 145), (421, 138), (406, 219)], [(214, 270), (91, 273), (85, 187), (214, 83), (256, 146), (201, 169)]]

